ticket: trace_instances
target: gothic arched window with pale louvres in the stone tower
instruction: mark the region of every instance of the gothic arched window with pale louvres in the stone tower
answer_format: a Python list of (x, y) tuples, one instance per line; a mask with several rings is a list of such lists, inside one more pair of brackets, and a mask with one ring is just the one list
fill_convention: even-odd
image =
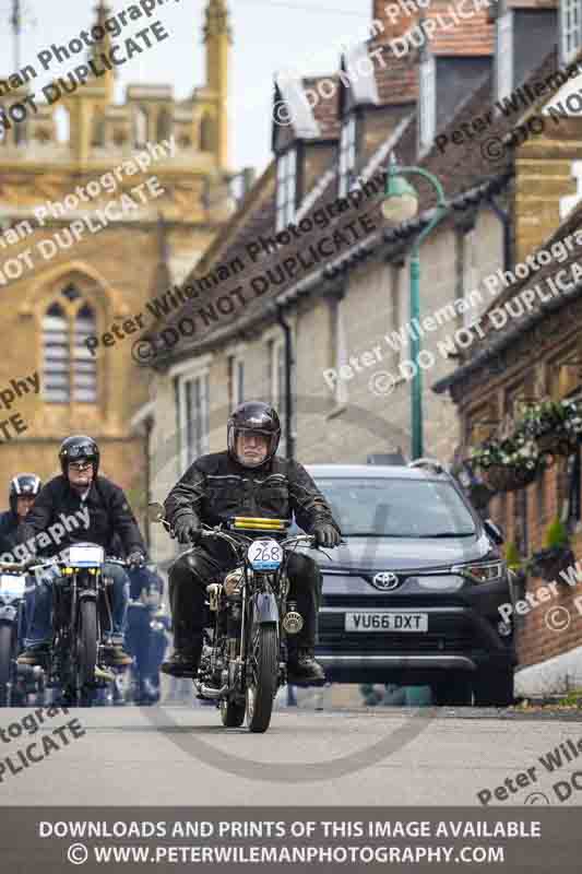
[(85, 345), (96, 332), (91, 306), (66, 286), (43, 317), (43, 397), (47, 403), (97, 403), (97, 363)]

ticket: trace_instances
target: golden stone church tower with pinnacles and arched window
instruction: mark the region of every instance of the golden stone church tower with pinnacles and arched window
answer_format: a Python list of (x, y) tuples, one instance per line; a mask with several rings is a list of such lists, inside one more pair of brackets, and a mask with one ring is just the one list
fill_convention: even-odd
[[(111, 11), (103, 0), (95, 11), (93, 25), (105, 29)], [(122, 46), (143, 26), (115, 42)], [(81, 433), (98, 440), (103, 473), (128, 489), (136, 511), (143, 507), (145, 437), (132, 420), (150, 391), (147, 371), (132, 358), (135, 317), (151, 327), (146, 303), (185, 277), (234, 209), (226, 0), (209, 0), (203, 33), (206, 83), (185, 101), (171, 85), (135, 84), (116, 104), (115, 67), (74, 93), (61, 82), (54, 103), (40, 88), (35, 95), (34, 79), (14, 87), (13, 74), (0, 76), (0, 117), (13, 119), (0, 130), (0, 496), (16, 472), (44, 480), (59, 472), (61, 440)], [(192, 34), (193, 50), (195, 42)], [(110, 47), (106, 33), (84, 59), (58, 70)], [(36, 111), (16, 123), (11, 107), (27, 95)], [(138, 154), (151, 164), (130, 173)], [(99, 341), (94, 350), (91, 335)]]

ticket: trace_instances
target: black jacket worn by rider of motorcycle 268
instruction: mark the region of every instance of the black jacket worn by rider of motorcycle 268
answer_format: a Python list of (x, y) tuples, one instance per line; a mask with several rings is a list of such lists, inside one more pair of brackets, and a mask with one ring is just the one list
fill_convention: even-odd
[(215, 525), (231, 516), (290, 519), (308, 534), (318, 522), (340, 531), (325, 498), (306, 469), (275, 456), (260, 468), (245, 468), (228, 452), (202, 456), (186, 471), (165, 501), (174, 527), (189, 516), (194, 524)]

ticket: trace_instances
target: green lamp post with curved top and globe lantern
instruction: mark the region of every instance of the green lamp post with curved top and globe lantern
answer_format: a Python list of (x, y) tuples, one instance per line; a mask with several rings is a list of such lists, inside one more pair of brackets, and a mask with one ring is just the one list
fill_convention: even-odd
[[(399, 167), (391, 163), (388, 167), (382, 214), (391, 223), (406, 222), (418, 213), (418, 193), (404, 178), (414, 174), (427, 179), (437, 192), (437, 208), (430, 222), (418, 234), (411, 251), (411, 323), (420, 318), (420, 246), (432, 228), (447, 214), (449, 205), (444, 198), (442, 186), (431, 173), (421, 167)], [(412, 381), (411, 422), (412, 422), (412, 458), (421, 458), (424, 454), (423, 440), (423, 378), (418, 356), (420, 354), (420, 338), (417, 331), (411, 331), (411, 361), (415, 369)]]

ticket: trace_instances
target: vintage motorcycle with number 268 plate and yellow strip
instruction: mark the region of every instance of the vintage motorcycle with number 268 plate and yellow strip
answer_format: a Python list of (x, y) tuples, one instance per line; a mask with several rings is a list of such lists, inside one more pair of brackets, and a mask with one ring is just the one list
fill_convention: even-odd
[[(162, 505), (150, 505), (150, 518), (171, 531)], [(301, 544), (317, 548), (309, 534), (283, 539), (288, 525), (284, 519), (233, 517), (226, 529), (202, 531), (203, 538), (228, 543), (237, 560), (224, 579), (206, 587), (211, 626), (194, 678), (199, 697), (217, 701), (227, 728), (239, 728), (246, 717), (249, 731), (265, 732), (275, 695), (287, 682), (286, 640), (304, 626), (288, 600), (287, 562)]]

